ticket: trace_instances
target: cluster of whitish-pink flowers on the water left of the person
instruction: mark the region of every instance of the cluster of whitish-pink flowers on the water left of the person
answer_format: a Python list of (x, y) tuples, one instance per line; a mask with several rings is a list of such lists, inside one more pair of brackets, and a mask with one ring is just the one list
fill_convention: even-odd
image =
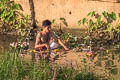
[(10, 43), (10, 47), (16, 48), (16, 49), (22, 49), (27, 50), (29, 49), (29, 43), (28, 42), (12, 42)]

